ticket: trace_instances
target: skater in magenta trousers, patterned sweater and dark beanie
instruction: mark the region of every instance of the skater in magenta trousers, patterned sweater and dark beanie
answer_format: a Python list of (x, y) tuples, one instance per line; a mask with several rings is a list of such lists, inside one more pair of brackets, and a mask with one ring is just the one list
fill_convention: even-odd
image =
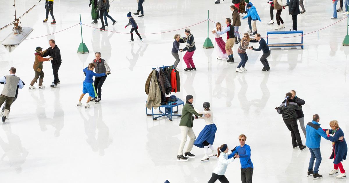
[(180, 52), (187, 51), (183, 56), (183, 60), (184, 60), (185, 64), (187, 65), (187, 68), (185, 68), (184, 70), (185, 71), (196, 70), (196, 67), (195, 67), (194, 61), (193, 61), (193, 55), (194, 55), (194, 52), (196, 49), (194, 36), (190, 32), (190, 29), (185, 29), (184, 34), (185, 34), (185, 37), (180, 38), (180, 40), (179, 40), (179, 43), (187, 43), (187, 45), (183, 49), (179, 50)]

